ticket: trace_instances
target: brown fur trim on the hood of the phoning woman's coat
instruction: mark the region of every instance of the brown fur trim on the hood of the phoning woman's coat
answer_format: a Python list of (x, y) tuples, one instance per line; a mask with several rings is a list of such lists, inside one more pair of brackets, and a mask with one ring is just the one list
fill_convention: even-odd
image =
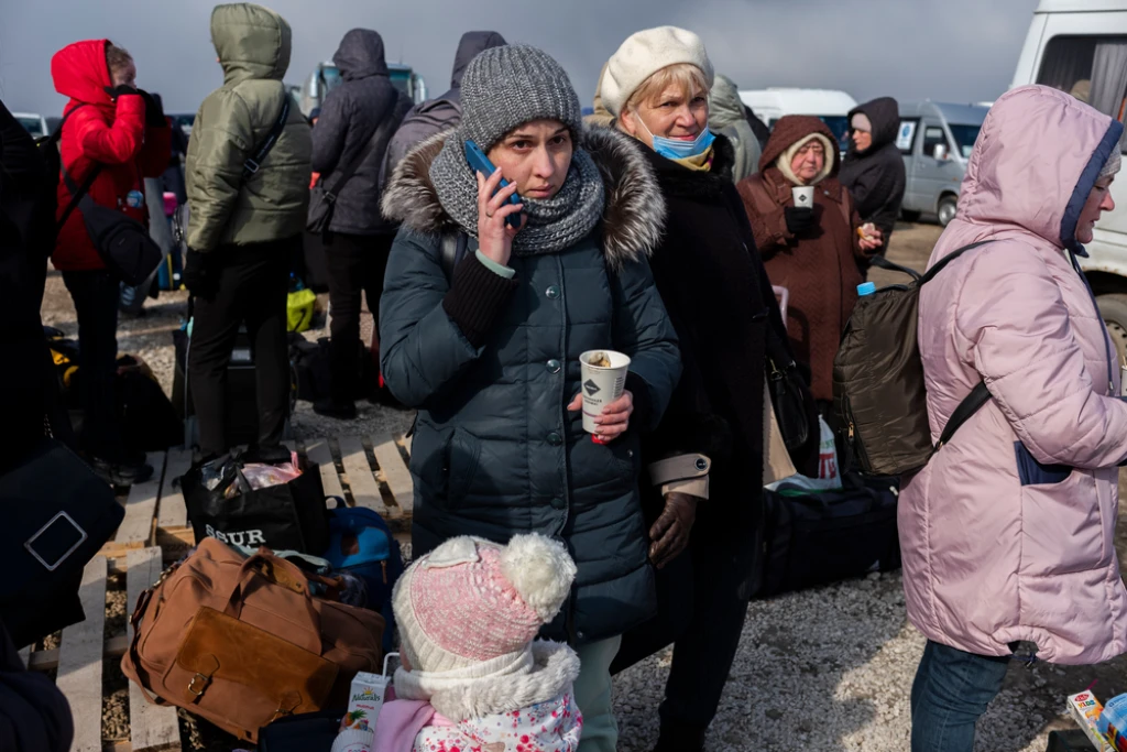
[[(416, 147), (396, 167), (383, 193), (383, 215), (426, 235), (460, 230), (443, 209), (431, 180), (431, 163), (442, 151), (446, 131)], [(579, 148), (587, 151), (606, 188), (601, 223), (602, 247), (611, 268), (649, 256), (665, 227), (665, 201), (657, 178), (633, 139), (606, 129), (585, 129)]]

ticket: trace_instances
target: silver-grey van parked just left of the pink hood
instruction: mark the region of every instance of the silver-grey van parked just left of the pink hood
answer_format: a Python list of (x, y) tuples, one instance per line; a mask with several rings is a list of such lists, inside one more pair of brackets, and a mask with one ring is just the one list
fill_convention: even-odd
[(943, 101), (900, 103), (896, 145), (904, 154), (904, 219), (914, 222), (929, 214), (943, 227), (955, 219), (967, 159), (987, 112)]

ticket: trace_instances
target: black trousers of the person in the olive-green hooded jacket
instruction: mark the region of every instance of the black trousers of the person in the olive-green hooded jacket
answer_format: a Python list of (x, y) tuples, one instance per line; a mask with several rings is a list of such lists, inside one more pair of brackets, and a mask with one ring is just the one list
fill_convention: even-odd
[(258, 444), (282, 443), (290, 407), (290, 356), (286, 343), (286, 294), (290, 254), (300, 236), (248, 246), (221, 246), (213, 254), (215, 294), (195, 298), (188, 383), (199, 422), (199, 448), (205, 454), (230, 449), (227, 439), (227, 369), (239, 335), (247, 325), (255, 359), (258, 392)]

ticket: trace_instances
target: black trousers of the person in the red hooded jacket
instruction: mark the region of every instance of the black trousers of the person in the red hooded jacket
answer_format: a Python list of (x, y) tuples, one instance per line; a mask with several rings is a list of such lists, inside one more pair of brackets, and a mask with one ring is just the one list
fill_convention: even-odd
[(63, 272), (78, 313), (79, 381), (85, 417), (79, 445), (109, 462), (125, 461), (117, 423), (117, 277), (109, 272)]

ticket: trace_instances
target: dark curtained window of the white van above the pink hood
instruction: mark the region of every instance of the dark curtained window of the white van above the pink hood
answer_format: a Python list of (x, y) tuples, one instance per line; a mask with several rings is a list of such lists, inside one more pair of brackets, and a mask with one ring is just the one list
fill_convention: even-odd
[(1045, 45), (1037, 82), (1066, 91), (1122, 121), (1127, 105), (1127, 36), (1055, 36)]

